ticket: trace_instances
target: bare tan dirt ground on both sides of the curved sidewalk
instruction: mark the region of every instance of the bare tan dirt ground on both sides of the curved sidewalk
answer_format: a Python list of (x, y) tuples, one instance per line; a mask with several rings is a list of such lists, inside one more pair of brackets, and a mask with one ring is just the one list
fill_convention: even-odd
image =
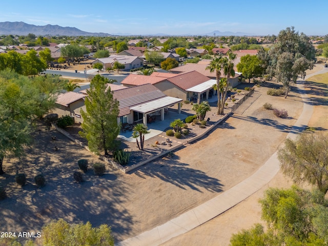
[[(6, 186), (8, 198), (1, 201), (0, 228), (39, 231), (51, 219), (65, 218), (74, 223), (90, 221), (93, 226), (109, 224), (116, 241), (120, 241), (198, 206), (253, 174), (282, 144), (303, 103), (295, 87), (287, 99), (268, 96), (268, 87), (275, 86), (272, 82), (256, 88), (234, 115), (206, 138), (176, 151), (172, 159), (157, 159), (131, 174), (107, 167), (104, 176), (96, 177), (90, 169), (81, 184), (73, 180), (77, 160), (88, 159), (92, 165), (99, 162), (98, 158), (54, 130), (40, 129), (25, 157), (4, 161), (6, 174), (0, 176), (0, 181)], [(262, 108), (264, 103), (287, 110), (289, 117), (275, 117), (272, 111)], [(56, 141), (52, 141), (53, 135)], [(23, 171), (28, 183), (20, 188), (14, 175)], [(33, 180), (38, 173), (46, 177), (46, 186), (41, 189)], [(281, 180), (271, 183), (280, 185)], [(290, 185), (288, 180), (284, 182)], [(206, 235), (215, 242), (207, 245), (228, 245), (232, 233), (259, 218), (257, 199), (252, 196), (245, 200), (249, 203), (240, 203), (219, 216), (225, 216), (219, 222), (215, 218), (208, 228), (203, 229), (206, 223), (195, 229), (201, 231), (191, 231), (163, 245), (196, 245), (192, 235), (197, 245), (206, 245)]]

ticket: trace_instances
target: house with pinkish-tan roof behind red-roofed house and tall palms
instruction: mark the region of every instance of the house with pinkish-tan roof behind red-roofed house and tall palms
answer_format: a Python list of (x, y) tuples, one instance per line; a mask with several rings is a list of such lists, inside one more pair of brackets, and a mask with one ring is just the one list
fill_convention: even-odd
[[(207, 76), (210, 79), (216, 79), (215, 72), (210, 72), (210, 70), (206, 69), (209, 65), (204, 64), (194, 64), (194, 63), (187, 63), (183, 66), (179, 66), (176, 68), (172, 68), (169, 71), (171, 73), (183, 73), (183, 72), (190, 72), (190, 71), (197, 71), (204, 76)], [(236, 71), (236, 70), (235, 70)], [(236, 72), (234, 77), (230, 77), (230, 86), (236, 87), (239, 84), (239, 76), (241, 73)], [(221, 71), (221, 78), (223, 77), (223, 71)]]

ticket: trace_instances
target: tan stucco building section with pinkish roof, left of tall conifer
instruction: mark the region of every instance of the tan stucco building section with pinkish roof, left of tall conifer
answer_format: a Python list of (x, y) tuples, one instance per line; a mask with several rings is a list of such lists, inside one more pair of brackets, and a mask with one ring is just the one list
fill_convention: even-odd
[(58, 116), (70, 115), (74, 117), (74, 122), (83, 122), (80, 109), (85, 106), (84, 98), (86, 95), (77, 92), (69, 91), (59, 94), (56, 100), (56, 108), (53, 113)]

